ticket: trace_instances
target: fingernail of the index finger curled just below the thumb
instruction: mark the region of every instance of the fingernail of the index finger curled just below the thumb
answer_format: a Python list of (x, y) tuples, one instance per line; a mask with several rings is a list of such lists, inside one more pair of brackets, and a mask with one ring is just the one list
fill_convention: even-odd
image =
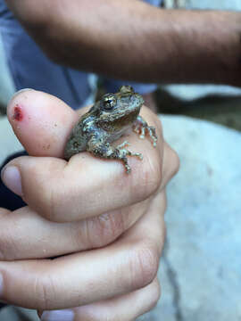
[(6, 185), (13, 193), (22, 196), (21, 189), (21, 173), (16, 166), (6, 166), (2, 169), (1, 177)]

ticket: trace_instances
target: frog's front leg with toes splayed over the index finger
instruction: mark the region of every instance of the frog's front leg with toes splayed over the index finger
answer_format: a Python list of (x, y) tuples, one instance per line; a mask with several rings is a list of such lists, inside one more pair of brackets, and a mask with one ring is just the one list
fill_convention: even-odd
[(93, 136), (87, 143), (87, 151), (93, 153), (96, 157), (122, 161), (126, 172), (129, 174), (131, 169), (127, 156), (136, 156), (140, 160), (142, 160), (143, 157), (139, 152), (130, 152), (128, 149), (124, 148), (126, 145), (129, 145), (127, 141), (114, 147), (103, 139), (96, 141), (96, 137)]

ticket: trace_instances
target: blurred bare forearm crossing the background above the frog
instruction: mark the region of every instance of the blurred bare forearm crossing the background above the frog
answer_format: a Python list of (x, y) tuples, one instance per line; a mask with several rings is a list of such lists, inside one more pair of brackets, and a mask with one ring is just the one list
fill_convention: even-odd
[(137, 0), (7, 0), (55, 62), (114, 78), (241, 86), (241, 13)]

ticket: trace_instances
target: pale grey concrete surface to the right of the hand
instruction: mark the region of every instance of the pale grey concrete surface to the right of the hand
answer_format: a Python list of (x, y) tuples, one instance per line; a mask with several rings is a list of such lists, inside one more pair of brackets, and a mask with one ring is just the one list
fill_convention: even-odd
[(203, 120), (162, 118), (179, 152), (168, 187), (162, 299), (138, 320), (241, 320), (241, 134)]

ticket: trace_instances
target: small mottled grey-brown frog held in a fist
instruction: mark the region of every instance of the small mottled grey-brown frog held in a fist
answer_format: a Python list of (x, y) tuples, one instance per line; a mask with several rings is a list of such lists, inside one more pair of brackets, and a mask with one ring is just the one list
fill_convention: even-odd
[(121, 161), (129, 174), (131, 168), (127, 156), (143, 160), (143, 155), (130, 152), (126, 148), (128, 141), (117, 146), (113, 142), (132, 128), (141, 139), (148, 134), (156, 146), (155, 128), (148, 126), (139, 115), (143, 104), (142, 95), (135, 93), (131, 86), (120, 86), (119, 92), (103, 95), (72, 128), (64, 149), (65, 160), (69, 161), (71, 156), (79, 152), (90, 152), (99, 158)]

